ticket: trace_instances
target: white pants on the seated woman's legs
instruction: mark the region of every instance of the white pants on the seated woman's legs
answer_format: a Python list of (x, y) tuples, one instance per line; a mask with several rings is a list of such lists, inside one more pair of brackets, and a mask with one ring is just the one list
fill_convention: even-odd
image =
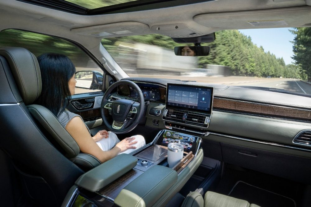
[[(120, 141), (115, 133), (113, 133), (111, 131), (109, 131), (108, 133), (109, 133), (109, 137), (108, 138), (103, 138), (100, 141), (96, 142), (96, 144), (103, 151), (111, 150)], [(143, 136), (135, 135), (135, 136), (131, 136), (131, 137), (135, 137), (134, 141), (137, 141), (137, 143), (133, 145), (136, 148), (135, 149), (127, 149), (124, 152), (121, 152), (119, 154), (122, 154), (122, 153), (129, 154), (132, 151), (137, 150), (138, 148), (141, 148), (142, 146), (146, 145), (146, 140), (145, 140), (145, 138)]]

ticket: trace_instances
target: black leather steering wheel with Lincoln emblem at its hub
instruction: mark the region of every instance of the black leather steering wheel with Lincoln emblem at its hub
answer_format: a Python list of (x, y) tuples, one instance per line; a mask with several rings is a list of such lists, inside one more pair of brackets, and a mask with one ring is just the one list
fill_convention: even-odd
[[(139, 96), (139, 103), (129, 99), (109, 100), (111, 92), (118, 85), (132, 86)], [(110, 125), (105, 116), (105, 108), (111, 113), (113, 123)], [(100, 105), (100, 115), (106, 127), (116, 133), (124, 134), (132, 131), (139, 123), (145, 112), (145, 99), (142, 90), (132, 81), (121, 80), (117, 81), (106, 90)]]

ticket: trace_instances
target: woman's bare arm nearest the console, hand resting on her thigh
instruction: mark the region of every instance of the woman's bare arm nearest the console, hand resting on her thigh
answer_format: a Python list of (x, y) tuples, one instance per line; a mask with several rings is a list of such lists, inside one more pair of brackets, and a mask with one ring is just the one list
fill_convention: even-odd
[[(137, 141), (132, 141), (132, 138), (126, 138), (120, 141), (114, 148), (108, 151), (103, 151), (95, 143), (87, 130), (83, 120), (80, 117), (73, 117), (66, 125), (65, 129), (68, 133), (76, 140), (81, 152), (91, 154), (95, 156), (100, 162), (105, 162), (115, 156), (118, 153), (123, 152), (127, 149), (135, 149), (132, 146)], [(135, 138), (134, 138), (135, 139)]]

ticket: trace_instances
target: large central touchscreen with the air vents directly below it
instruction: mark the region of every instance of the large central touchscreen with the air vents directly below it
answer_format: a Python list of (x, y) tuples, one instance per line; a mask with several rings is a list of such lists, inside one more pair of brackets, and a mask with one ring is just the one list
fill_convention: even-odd
[(212, 114), (213, 97), (213, 87), (168, 83), (165, 127), (204, 134)]

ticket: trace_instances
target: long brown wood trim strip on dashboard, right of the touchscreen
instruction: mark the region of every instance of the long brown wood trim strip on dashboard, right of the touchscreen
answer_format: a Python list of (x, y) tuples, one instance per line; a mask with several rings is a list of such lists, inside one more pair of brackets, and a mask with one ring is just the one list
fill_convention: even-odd
[(311, 122), (311, 110), (214, 98), (214, 110)]

